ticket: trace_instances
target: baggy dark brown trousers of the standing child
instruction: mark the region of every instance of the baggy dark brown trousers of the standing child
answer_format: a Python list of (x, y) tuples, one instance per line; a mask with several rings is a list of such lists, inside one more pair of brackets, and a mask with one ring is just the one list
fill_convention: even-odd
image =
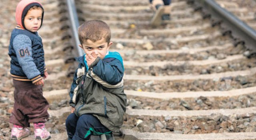
[(48, 101), (43, 96), (41, 85), (13, 80), (14, 107), (10, 123), (29, 127), (30, 122), (46, 122), (49, 118)]

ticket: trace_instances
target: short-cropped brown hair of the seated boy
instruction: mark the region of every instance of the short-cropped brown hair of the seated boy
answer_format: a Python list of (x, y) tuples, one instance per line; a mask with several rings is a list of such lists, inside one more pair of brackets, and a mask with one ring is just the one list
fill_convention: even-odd
[(110, 27), (101, 20), (85, 21), (78, 27), (78, 37), (81, 45), (87, 40), (92, 42), (105, 38), (106, 42), (110, 43), (111, 32)]

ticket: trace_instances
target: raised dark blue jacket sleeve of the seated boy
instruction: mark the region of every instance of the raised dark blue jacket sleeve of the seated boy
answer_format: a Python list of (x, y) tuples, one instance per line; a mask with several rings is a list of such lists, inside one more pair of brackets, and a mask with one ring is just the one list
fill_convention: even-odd
[[(92, 72), (110, 85), (118, 84), (124, 76), (122, 63), (115, 58), (99, 59), (97, 64), (93, 66)], [(92, 78), (94, 77), (92, 76)]]

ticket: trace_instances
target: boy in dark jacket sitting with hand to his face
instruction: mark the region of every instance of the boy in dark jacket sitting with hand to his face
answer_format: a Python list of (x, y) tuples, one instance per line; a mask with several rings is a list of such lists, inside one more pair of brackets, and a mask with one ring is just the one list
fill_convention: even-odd
[(78, 58), (70, 90), (68, 139), (89, 140), (91, 135), (101, 134), (110, 138), (112, 132), (119, 132), (126, 111), (122, 57), (108, 51), (112, 42), (105, 22), (86, 21), (78, 28), (78, 35), (85, 55)]

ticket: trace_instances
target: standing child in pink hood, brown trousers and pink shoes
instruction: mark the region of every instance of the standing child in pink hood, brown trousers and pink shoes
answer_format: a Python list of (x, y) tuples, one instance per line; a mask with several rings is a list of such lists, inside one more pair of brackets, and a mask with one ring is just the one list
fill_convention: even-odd
[(42, 86), (48, 73), (44, 64), (42, 39), (37, 30), (42, 26), (44, 9), (35, 0), (21, 0), (16, 8), (17, 26), (12, 31), (9, 46), (10, 73), (14, 84), (14, 108), (10, 123), (14, 124), (10, 140), (20, 140), (30, 134), (26, 127), (34, 123), (36, 140), (48, 140), (44, 127), (49, 114)]

